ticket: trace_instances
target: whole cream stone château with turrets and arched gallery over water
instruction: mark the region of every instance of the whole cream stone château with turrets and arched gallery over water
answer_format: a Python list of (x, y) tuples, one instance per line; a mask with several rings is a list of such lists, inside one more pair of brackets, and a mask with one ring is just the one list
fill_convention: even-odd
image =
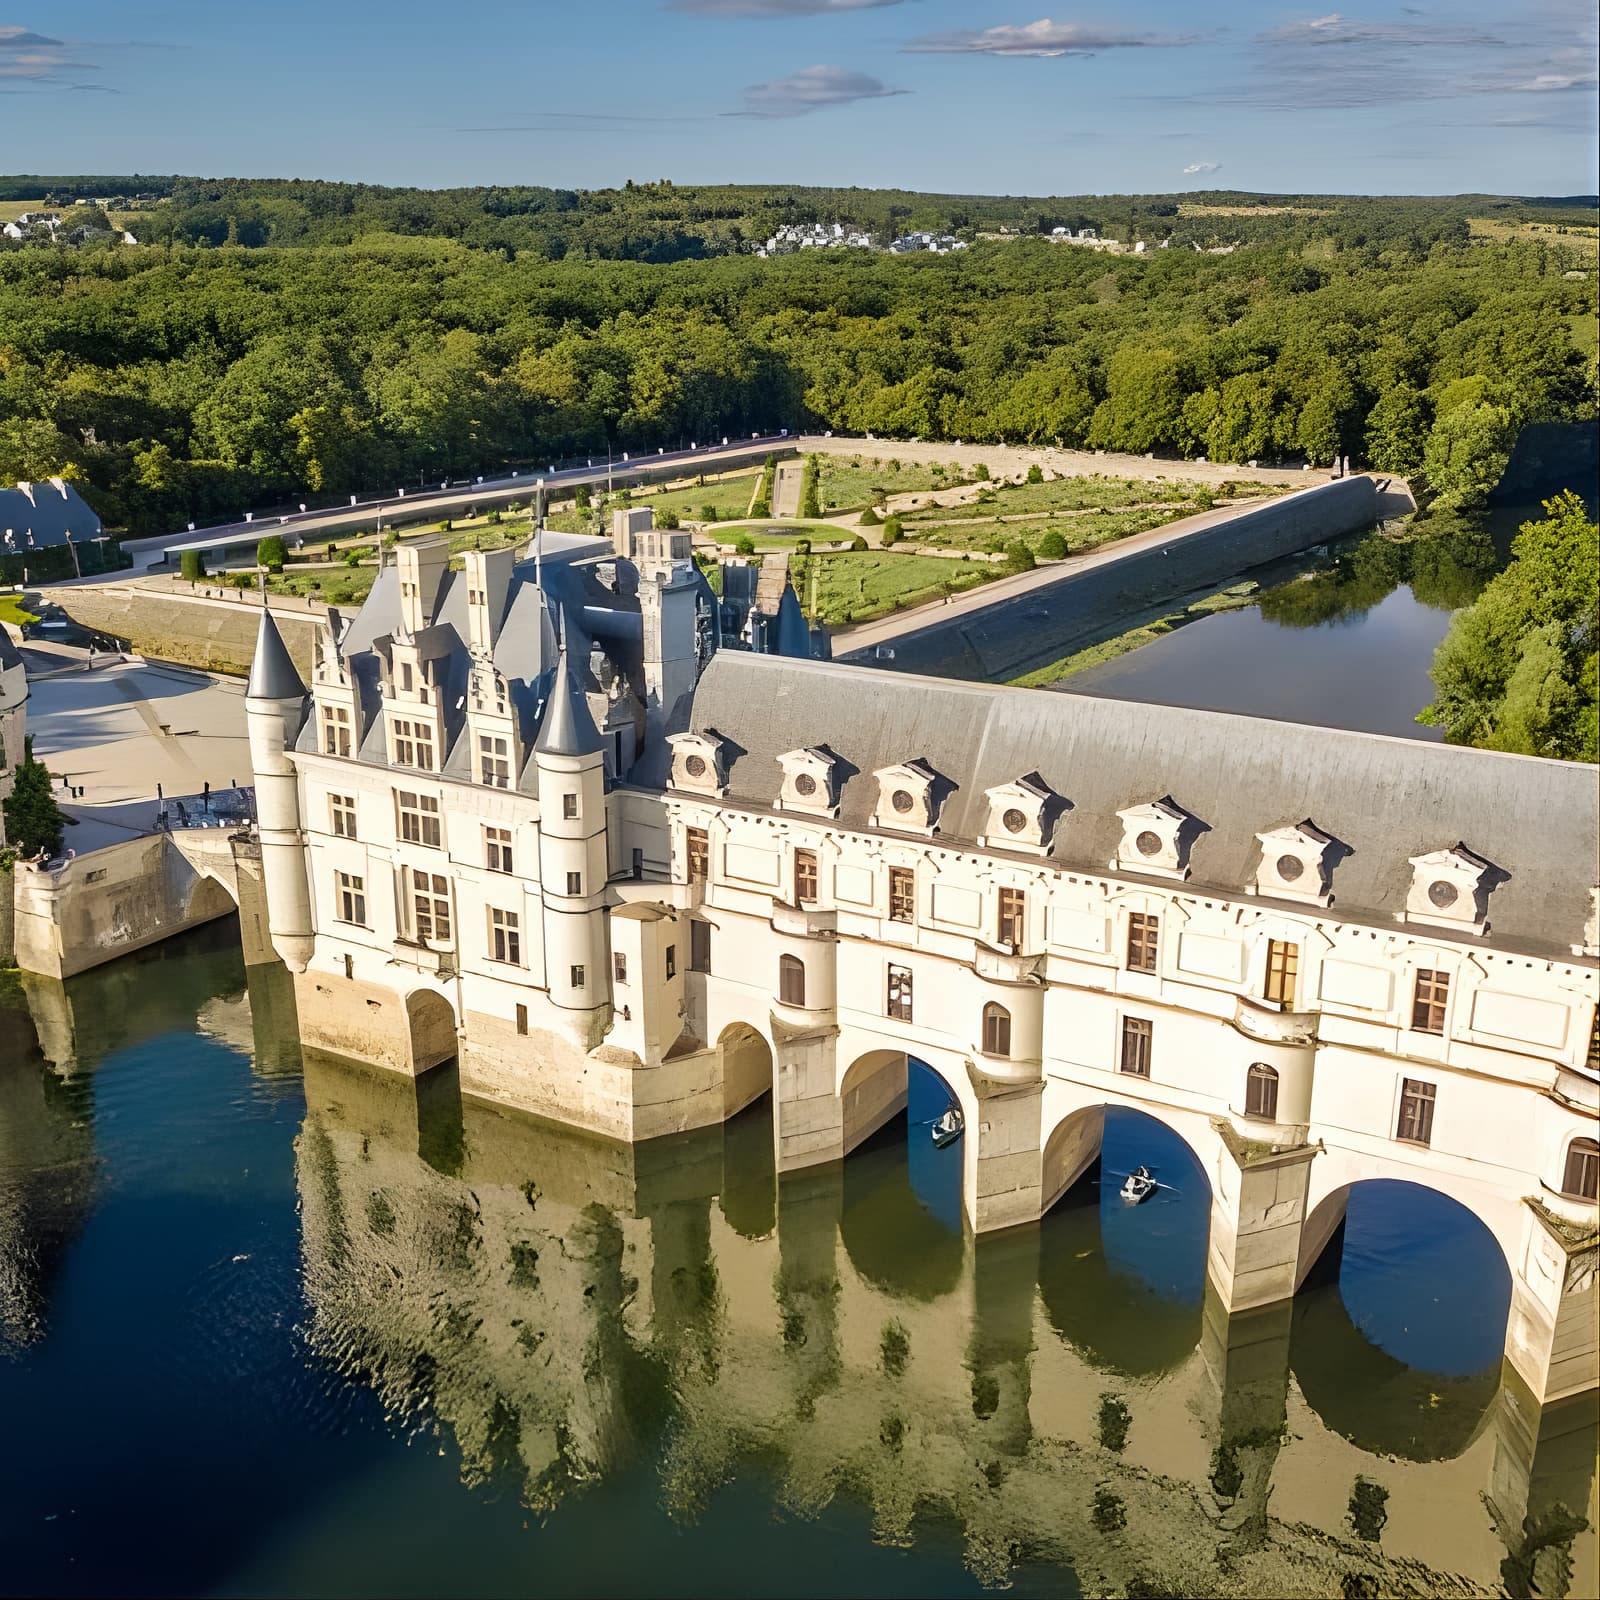
[[(771, 1091), (779, 1171), (965, 1114), (1038, 1218), (1107, 1104), (1178, 1131), (1229, 1310), (1355, 1182), (1469, 1206), (1536, 1400), (1595, 1384), (1597, 795), (1581, 766), (736, 648), (686, 541), (403, 546), (248, 707), (304, 1042), (642, 1141)], [(792, 608), (792, 595), (786, 598)], [(784, 640), (789, 651), (784, 651)]]

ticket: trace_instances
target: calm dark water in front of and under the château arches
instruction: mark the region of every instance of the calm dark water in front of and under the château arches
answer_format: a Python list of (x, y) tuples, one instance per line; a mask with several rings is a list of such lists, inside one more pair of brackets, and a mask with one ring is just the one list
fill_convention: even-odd
[(1173, 1134), (974, 1243), (944, 1098), (779, 1186), (765, 1106), (627, 1150), (302, 1062), (226, 934), (13, 981), (0, 1589), (1595, 1592), (1594, 1419), (1501, 1387), (1464, 1213), (1357, 1189), (1230, 1322)]

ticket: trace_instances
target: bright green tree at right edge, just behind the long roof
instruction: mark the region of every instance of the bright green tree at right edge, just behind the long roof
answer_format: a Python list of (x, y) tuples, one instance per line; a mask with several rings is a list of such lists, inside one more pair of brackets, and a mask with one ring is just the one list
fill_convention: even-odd
[(1512, 560), (1458, 611), (1419, 722), (1451, 744), (1600, 758), (1600, 526), (1566, 491), (1523, 523)]

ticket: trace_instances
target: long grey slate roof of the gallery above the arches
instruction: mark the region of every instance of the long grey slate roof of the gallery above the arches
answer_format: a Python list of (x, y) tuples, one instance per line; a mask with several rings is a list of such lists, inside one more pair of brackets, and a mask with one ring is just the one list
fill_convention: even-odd
[[(1507, 874), (1483, 942), (1571, 958), (1595, 883), (1600, 789), (1571, 762), (736, 651), (712, 658), (690, 728), (730, 741), (728, 798), (758, 806), (778, 797), (778, 755), (826, 742), (858, 770), (838, 821), (859, 830), (875, 770), (920, 758), (944, 774), (939, 837), (962, 842), (986, 829), (986, 789), (1037, 771), (1067, 802), (1051, 858), (1090, 874), (1117, 854), (1117, 811), (1170, 794), (1203, 824), (1190, 893), (1238, 894), (1256, 834), (1310, 818), (1352, 851), (1333, 874), (1339, 920), (1398, 926), (1410, 858), (1464, 840)], [(661, 786), (664, 755), (650, 757), (634, 781)]]

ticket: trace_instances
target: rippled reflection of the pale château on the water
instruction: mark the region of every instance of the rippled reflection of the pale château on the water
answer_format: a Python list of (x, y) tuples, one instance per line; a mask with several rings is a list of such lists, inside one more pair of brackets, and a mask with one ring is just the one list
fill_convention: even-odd
[(306, 1288), (315, 1349), (448, 1427), (470, 1485), (560, 1515), (654, 1464), (693, 1522), (763, 1472), (786, 1510), (950, 1522), (986, 1581), (1086, 1594), (1594, 1590), (1592, 1408), (1410, 1373), (1336, 1286), (1152, 1307), (1123, 1360), (1096, 1251), (939, 1240), (893, 1152), (778, 1186), (762, 1110), (629, 1149), (437, 1078), (307, 1061)]

